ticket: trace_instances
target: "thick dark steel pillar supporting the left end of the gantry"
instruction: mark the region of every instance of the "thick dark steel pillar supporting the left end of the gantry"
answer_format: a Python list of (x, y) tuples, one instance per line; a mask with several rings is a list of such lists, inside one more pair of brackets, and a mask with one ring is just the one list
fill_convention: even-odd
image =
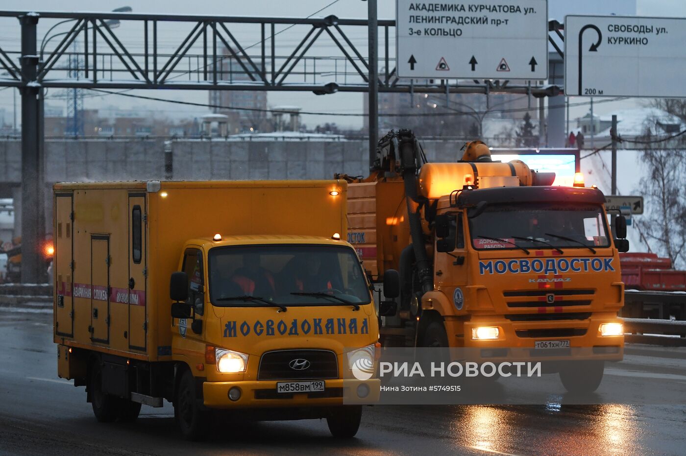
[(45, 226), (41, 214), (43, 170), (38, 142), (38, 91), (34, 86), (38, 66), (36, 25), (38, 14), (19, 16), (21, 23), (21, 282), (40, 283), (45, 272), (40, 261), (40, 241)]

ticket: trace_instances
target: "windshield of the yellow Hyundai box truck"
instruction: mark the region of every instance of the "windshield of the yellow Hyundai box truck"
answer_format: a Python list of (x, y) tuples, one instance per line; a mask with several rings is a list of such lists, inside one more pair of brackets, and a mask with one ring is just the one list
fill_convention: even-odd
[(362, 267), (348, 247), (229, 245), (212, 248), (208, 263), (210, 301), (219, 307), (264, 306), (239, 299), (246, 296), (287, 307), (370, 302)]

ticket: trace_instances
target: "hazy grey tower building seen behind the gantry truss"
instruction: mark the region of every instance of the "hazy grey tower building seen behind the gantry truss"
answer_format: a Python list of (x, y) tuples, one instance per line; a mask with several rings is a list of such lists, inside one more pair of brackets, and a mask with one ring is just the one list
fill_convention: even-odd
[[(248, 76), (226, 47), (224, 47), (222, 54), (222, 61), (217, 68), (217, 78), (220, 82), (252, 82), (250, 76)], [(215, 106), (211, 108), (213, 113), (227, 116), (229, 134), (255, 130), (270, 130), (270, 123), (267, 121), (266, 112), (266, 91), (209, 91), (209, 104)], [(228, 107), (244, 109), (230, 109)], [(251, 128), (252, 130), (250, 130)]]

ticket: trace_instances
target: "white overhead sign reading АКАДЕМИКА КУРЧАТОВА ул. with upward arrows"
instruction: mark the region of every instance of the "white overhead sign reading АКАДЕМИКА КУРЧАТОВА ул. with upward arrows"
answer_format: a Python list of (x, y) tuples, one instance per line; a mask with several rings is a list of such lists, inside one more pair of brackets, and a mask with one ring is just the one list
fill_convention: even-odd
[(548, 77), (547, 0), (397, 0), (396, 7), (401, 77)]

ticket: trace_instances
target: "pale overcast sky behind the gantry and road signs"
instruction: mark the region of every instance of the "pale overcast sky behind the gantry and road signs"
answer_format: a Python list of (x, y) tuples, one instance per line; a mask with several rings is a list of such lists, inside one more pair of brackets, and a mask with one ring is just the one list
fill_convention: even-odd
[[(274, 1), (274, 0), (252, 0), (252, 1), (226, 1), (226, 0), (203, 0), (203, 1), (188, 1), (188, 0), (2, 0), (0, 5), (3, 10), (37, 10), (37, 11), (108, 11), (114, 8), (130, 5), (136, 13), (165, 13), (165, 14), (217, 14), (217, 15), (231, 15), (231, 16), (290, 16), (290, 17), (305, 17), (320, 10), (325, 5), (328, 5), (333, 0), (298, 0), (298, 1)], [(604, 8), (606, 1), (615, 2), (620, 5), (636, 5), (638, 15), (643, 16), (686, 16), (686, 1), (683, 0), (605, 0), (605, 1), (591, 1), (579, 0), (571, 2), (569, 0), (550, 0), (549, 12), (553, 14), (556, 10), (563, 8), (565, 10), (571, 8), (571, 12), (584, 14), (589, 11), (586, 8)], [(626, 3), (622, 3), (625, 1)], [(588, 5), (584, 8), (582, 5)], [(600, 6), (599, 6), (600, 5)], [(359, 17), (365, 18), (367, 14), (367, 3), (361, 0), (338, 0), (333, 5), (322, 10), (316, 16), (327, 16), (335, 14), (339, 17)], [(392, 0), (379, 0), (379, 17), (381, 19), (393, 19), (395, 16), (395, 2)], [(560, 21), (562, 17), (556, 18)], [(5, 19), (0, 25), (0, 43), (3, 49), (14, 48), (19, 49), (19, 27), (6, 22), (10, 19)], [(14, 19), (11, 19), (14, 21)], [(54, 23), (54, 22), (52, 22)], [(47, 32), (47, 27), (51, 25), (47, 21), (39, 23), (38, 34), (43, 36)], [(284, 26), (277, 27), (277, 30)], [(252, 42), (251, 40), (259, 40), (258, 29), (244, 29), (244, 35), (238, 36), (239, 41)], [(123, 27), (117, 32), (118, 35), (123, 32)], [(178, 43), (178, 36), (181, 30), (174, 33), (169, 30), (161, 34), (161, 38), (171, 47), (174, 43)], [(353, 43), (357, 45), (366, 55), (366, 39), (364, 29), (360, 29), (357, 36), (352, 36)], [(120, 35), (121, 36), (121, 35)], [(292, 29), (285, 32), (279, 38), (277, 43), (284, 43), (294, 46), (293, 42), (297, 42), (303, 36), (303, 32), (298, 29)], [(54, 44), (54, 43), (53, 43)], [(283, 48), (286, 49), (286, 48)], [(170, 51), (171, 49), (167, 49)], [(314, 49), (320, 55), (326, 55), (330, 49), (322, 45), (320, 49)], [(57, 91), (53, 91), (54, 95)], [(144, 95), (151, 95), (161, 98), (182, 99), (186, 101), (198, 101), (204, 103), (208, 100), (207, 93), (201, 91), (137, 91)], [(572, 101), (585, 101), (584, 99), (573, 99)], [(335, 95), (325, 95), (318, 97), (311, 93), (275, 93), (268, 94), (268, 102), (270, 106), (278, 106), (283, 104), (302, 106), (304, 110), (311, 111), (335, 111), (335, 112), (362, 112), (362, 94), (357, 93), (337, 93)], [(0, 110), (5, 110), (5, 121), (11, 123), (12, 119), (12, 89), (0, 91)], [(56, 106), (63, 106), (64, 101), (53, 100), (50, 104)], [(641, 103), (638, 100), (623, 101), (617, 103), (600, 104), (595, 108), (595, 112), (601, 115), (606, 115), (613, 110), (637, 106)], [(85, 100), (86, 108), (102, 108), (108, 105), (120, 106), (121, 108), (149, 108), (158, 111), (161, 115), (174, 115), (174, 113), (182, 112), (184, 115), (202, 114), (206, 112), (203, 108), (187, 108), (178, 105), (166, 104), (161, 102), (147, 102), (123, 98), (117, 95), (109, 95), (105, 97), (87, 97)], [(19, 101), (17, 97), (17, 109), (19, 110)], [(583, 115), (587, 111), (587, 107), (578, 107), (571, 110), (571, 118)], [(21, 115), (17, 112), (17, 119), (21, 119)], [(314, 127), (316, 123), (323, 123), (324, 121), (336, 121), (342, 125), (359, 128), (362, 125), (362, 118), (360, 117), (305, 117), (305, 123), (310, 127)]]

